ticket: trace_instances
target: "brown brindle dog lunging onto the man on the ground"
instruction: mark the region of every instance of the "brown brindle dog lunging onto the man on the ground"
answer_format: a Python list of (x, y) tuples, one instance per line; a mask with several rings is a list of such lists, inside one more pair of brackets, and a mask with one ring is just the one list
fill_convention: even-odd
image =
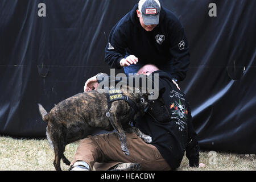
[[(96, 129), (109, 131), (115, 129), (121, 140), (122, 151), (126, 155), (129, 155), (129, 150), (126, 146), (126, 135), (123, 129), (127, 132), (135, 132), (145, 142), (151, 143), (152, 139), (150, 136), (143, 134), (135, 127), (131, 127), (129, 122), (141, 117), (144, 114), (144, 109), (148, 105), (151, 105), (150, 102), (156, 102), (155, 104), (163, 106), (164, 101), (161, 97), (164, 90), (165, 88), (159, 91), (159, 98), (154, 101), (148, 100), (149, 93), (136, 94), (123, 92), (138, 108), (138, 112), (133, 118), (133, 109), (126, 101), (114, 101), (110, 110), (108, 110), (106, 94), (99, 93), (97, 90), (79, 93), (69, 97), (55, 105), (49, 113), (47, 113), (42, 105), (38, 104), (43, 120), (48, 122), (46, 134), (49, 144), (55, 152), (55, 160), (53, 162), (55, 169), (58, 171), (61, 170), (60, 159), (63, 159), (65, 164), (70, 165), (69, 160), (63, 154), (67, 144), (86, 138)], [(141, 97), (144, 98), (143, 101)], [(162, 107), (159, 107), (159, 109), (163, 110)], [(150, 109), (152, 115), (154, 115), (154, 111), (157, 110)], [(110, 115), (106, 114), (108, 112)], [(167, 115), (167, 107), (164, 108), (164, 113)], [(155, 117), (157, 118), (158, 115)]]

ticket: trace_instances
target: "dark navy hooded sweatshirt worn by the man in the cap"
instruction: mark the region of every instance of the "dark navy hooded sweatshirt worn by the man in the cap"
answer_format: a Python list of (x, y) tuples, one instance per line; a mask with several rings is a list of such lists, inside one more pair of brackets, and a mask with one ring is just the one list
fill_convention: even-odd
[(172, 78), (177, 82), (184, 80), (190, 55), (183, 26), (170, 10), (162, 7), (158, 26), (147, 32), (139, 22), (137, 9), (138, 5), (135, 5), (112, 28), (105, 61), (117, 69), (121, 68), (120, 60), (129, 55), (138, 57), (140, 63), (156, 66), (171, 63)]

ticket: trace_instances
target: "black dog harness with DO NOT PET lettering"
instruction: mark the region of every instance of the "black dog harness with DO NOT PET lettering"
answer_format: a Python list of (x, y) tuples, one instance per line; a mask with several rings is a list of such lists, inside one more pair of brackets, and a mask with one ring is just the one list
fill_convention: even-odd
[(106, 93), (106, 98), (108, 100), (108, 112), (106, 113), (106, 117), (110, 117), (109, 110), (112, 102), (119, 100), (126, 101), (131, 106), (133, 117), (138, 112), (137, 105), (128, 96), (124, 95), (121, 89), (109, 89), (109, 93)]

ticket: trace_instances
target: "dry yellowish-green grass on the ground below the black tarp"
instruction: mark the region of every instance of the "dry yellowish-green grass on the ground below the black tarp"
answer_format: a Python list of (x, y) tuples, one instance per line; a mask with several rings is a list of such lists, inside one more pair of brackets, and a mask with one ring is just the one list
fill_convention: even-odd
[[(79, 142), (68, 144), (65, 156), (72, 161)], [(180, 168), (177, 170), (210, 170), (210, 171), (251, 171), (256, 170), (255, 155), (238, 155), (225, 152), (200, 152), (200, 163), (204, 168), (188, 167), (188, 159), (184, 156)], [(0, 137), (0, 170), (1, 171), (54, 171), (53, 150), (46, 139), (15, 139)], [(61, 162), (61, 168), (68, 170), (68, 166)]]

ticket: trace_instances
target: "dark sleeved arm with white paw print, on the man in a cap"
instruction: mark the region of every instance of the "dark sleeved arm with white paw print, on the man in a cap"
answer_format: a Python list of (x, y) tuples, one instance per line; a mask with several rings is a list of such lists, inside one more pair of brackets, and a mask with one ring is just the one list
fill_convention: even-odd
[(174, 81), (179, 84), (187, 75), (188, 66), (190, 64), (190, 54), (188, 41), (185, 36), (184, 28), (174, 29), (171, 32), (171, 55), (173, 56), (173, 72)]

